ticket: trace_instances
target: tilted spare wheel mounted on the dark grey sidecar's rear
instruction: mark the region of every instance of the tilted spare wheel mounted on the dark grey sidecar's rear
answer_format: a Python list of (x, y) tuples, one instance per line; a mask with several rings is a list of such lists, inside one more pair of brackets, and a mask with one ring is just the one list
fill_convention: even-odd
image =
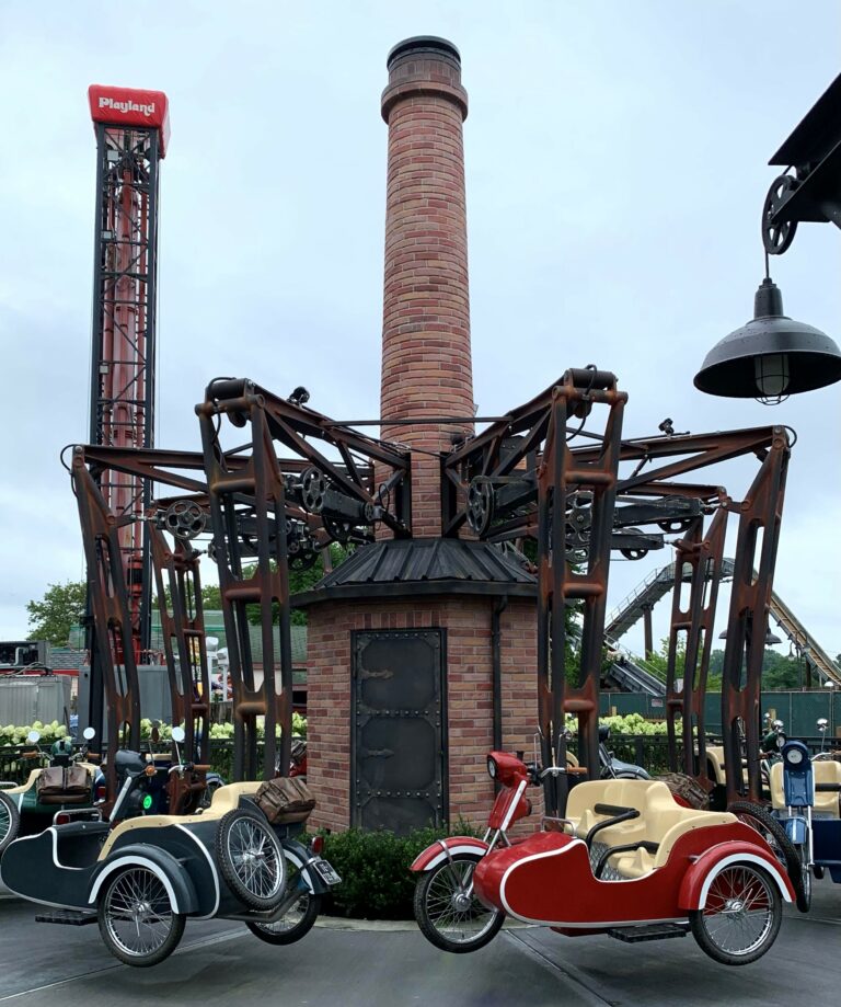
[(260, 812), (235, 808), (219, 822), (216, 859), (228, 888), (251, 909), (274, 909), (286, 891), (286, 860)]

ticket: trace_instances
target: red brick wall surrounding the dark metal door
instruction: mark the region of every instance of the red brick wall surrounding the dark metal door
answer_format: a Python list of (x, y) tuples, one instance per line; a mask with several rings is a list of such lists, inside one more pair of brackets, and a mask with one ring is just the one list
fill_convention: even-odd
[[(491, 615), (494, 598), (333, 603), (313, 606), (308, 634), (308, 782), (318, 799), (314, 826), (350, 824), (350, 632), (447, 630), (450, 821), (484, 824), (494, 797), (485, 768), (493, 740)], [(537, 728), (534, 603), (511, 599), (500, 618), (503, 741), (532, 751)], [(534, 799), (537, 791), (531, 797)]]

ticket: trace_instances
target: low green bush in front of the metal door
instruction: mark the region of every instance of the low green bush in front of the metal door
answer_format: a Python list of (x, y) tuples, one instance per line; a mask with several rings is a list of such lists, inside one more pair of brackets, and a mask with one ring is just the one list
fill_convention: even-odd
[(417, 876), (410, 870), (419, 852), (448, 835), (475, 836), (466, 822), (454, 828), (419, 828), (407, 836), (349, 828), (324, 834), (324, 857), (338, 871), (331, 912), (361, 919), (412, 919)]

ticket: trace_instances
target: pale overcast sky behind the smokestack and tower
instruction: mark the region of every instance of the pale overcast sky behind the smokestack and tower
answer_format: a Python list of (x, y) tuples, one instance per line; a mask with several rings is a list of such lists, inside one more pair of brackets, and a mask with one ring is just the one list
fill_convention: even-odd
[[(412, 13), (411, 11), (415, 11)], [(157, 445), (197, 450), (216, 375), (379, 412), (385, 57), (461, 50), (475, 398), (499, 414), (568, 366), (613, 370), (625, 434), (784, 423), (776, 591), (841, 651), (841, 385), (775, 409), (692, 377), (752, 312), (767, 161), (841, 70), (833, 0), (0, 0), (0, 639), (83, 575), (60, 448), (88, 430), (95, 146), (90, 83), (160, 89)], [(787, 313), (841, 337), (841, 233), (772, 260)], [(754, 465), (721, 478), (739, 499)], [(611, 573), (611, 603), (670, 561)], [(666, 605), (656, 633), (668, 625)], [(633, 639), (631, 640), (633, 642)]]

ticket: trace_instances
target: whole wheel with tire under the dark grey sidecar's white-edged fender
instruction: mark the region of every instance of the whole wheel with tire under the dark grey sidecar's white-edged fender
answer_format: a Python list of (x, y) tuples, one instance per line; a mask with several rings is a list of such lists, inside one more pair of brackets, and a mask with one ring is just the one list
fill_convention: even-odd
[(173, 912), (161, 879), (139, 865), (108, 880), (96, 909), (105, 947), (126, 965), (159, 964), (184, 932), (185, 917)]

